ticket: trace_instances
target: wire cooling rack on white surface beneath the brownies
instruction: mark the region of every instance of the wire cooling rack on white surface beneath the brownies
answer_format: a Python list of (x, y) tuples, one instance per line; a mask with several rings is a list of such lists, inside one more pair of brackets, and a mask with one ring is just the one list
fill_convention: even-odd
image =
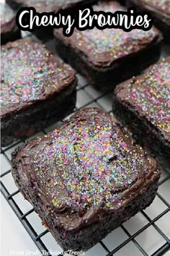
[[(24, 35), (23, 37), (25, 36), (32, 35)], [(46, 43), (46, 45), (51, 51), (55, 51), (53, 40)], [(77, 87), (75, 110), (95, 106), (112, 113), (112, 95), (95, 90), (79, 74), (78, 78), (79, 85)], [(48, 129), (43, 129), (34, 137), (50, 132), (60, 126), (61, 122), (59, 121)], [(23, 142), (23, 140), (18, 140), (6, 148), (1, 148), (1, 192), (42, 255), (53, 256), (54, 251), (62, 252), (61, 247), (55, 242), (50, 232), (42, 226), (40, 218), (35, 213), (32, 205), (24, 200), (12, 179), (11, 153), (14, 148)], [(151, 206), (130, 218), (120, 228), (112, 231), (99, 244), (86, 252), (85, 256), (170, 255), (169, 187), (170, 174), (163, 168), (156, 199)]]

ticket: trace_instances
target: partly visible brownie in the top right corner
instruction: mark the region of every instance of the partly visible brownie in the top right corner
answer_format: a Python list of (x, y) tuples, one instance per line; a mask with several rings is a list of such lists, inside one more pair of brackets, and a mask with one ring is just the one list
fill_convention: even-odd
[(156, 27), (164, 34), (164, 39), (170, 43), (170, 1), (169, 0), (126, 0), (128, 7), (135, 6), (140, 11), (150, 12)]

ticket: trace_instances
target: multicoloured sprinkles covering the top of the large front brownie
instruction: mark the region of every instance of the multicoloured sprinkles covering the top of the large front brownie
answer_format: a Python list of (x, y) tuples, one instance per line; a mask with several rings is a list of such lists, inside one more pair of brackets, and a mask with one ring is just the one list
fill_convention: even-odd
[(34, 150), (37, 183), (58, 209), (117, 208), (121, 192), (148, 171), (151, 159), (108, 114), (94, 108), (75, 116)]

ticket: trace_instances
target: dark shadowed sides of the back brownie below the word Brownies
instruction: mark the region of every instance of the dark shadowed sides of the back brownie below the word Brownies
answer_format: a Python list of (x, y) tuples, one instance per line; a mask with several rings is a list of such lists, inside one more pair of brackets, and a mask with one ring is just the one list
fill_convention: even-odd
[[(128, 80), (133, 75), (140, 74), (143, 69), (158, 61), (161, 54), (161, 41), (154, 41), (147, 48), (130, 54), (119, 61), (115, 61), (110, 67), (95, 67), (86, 56), (76, 52), (55, 34), (55, 44), (58, 55), (86, 77), (91, 85), (103, 92), (114, 90), (120, 82)], [(137, 61), (140, 59), (140, 62)], [(123, 72), (122, 72), (123, 71)]]

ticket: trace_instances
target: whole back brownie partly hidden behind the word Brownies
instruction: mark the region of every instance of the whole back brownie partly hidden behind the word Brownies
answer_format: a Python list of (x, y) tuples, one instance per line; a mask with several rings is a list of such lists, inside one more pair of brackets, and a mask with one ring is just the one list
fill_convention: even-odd
[[(102, 1), (94, 10), (115, 12), (125, 10), (116, 1)], [(150, 31), (121, 29), (74, 30), (64, 37), (62, 29), (54, 35), (58, 54), (83, 74), (100, 90), (112, 90), (117, 83), (127, 80), (158, 60), (161, 34), (153, 27)]]

